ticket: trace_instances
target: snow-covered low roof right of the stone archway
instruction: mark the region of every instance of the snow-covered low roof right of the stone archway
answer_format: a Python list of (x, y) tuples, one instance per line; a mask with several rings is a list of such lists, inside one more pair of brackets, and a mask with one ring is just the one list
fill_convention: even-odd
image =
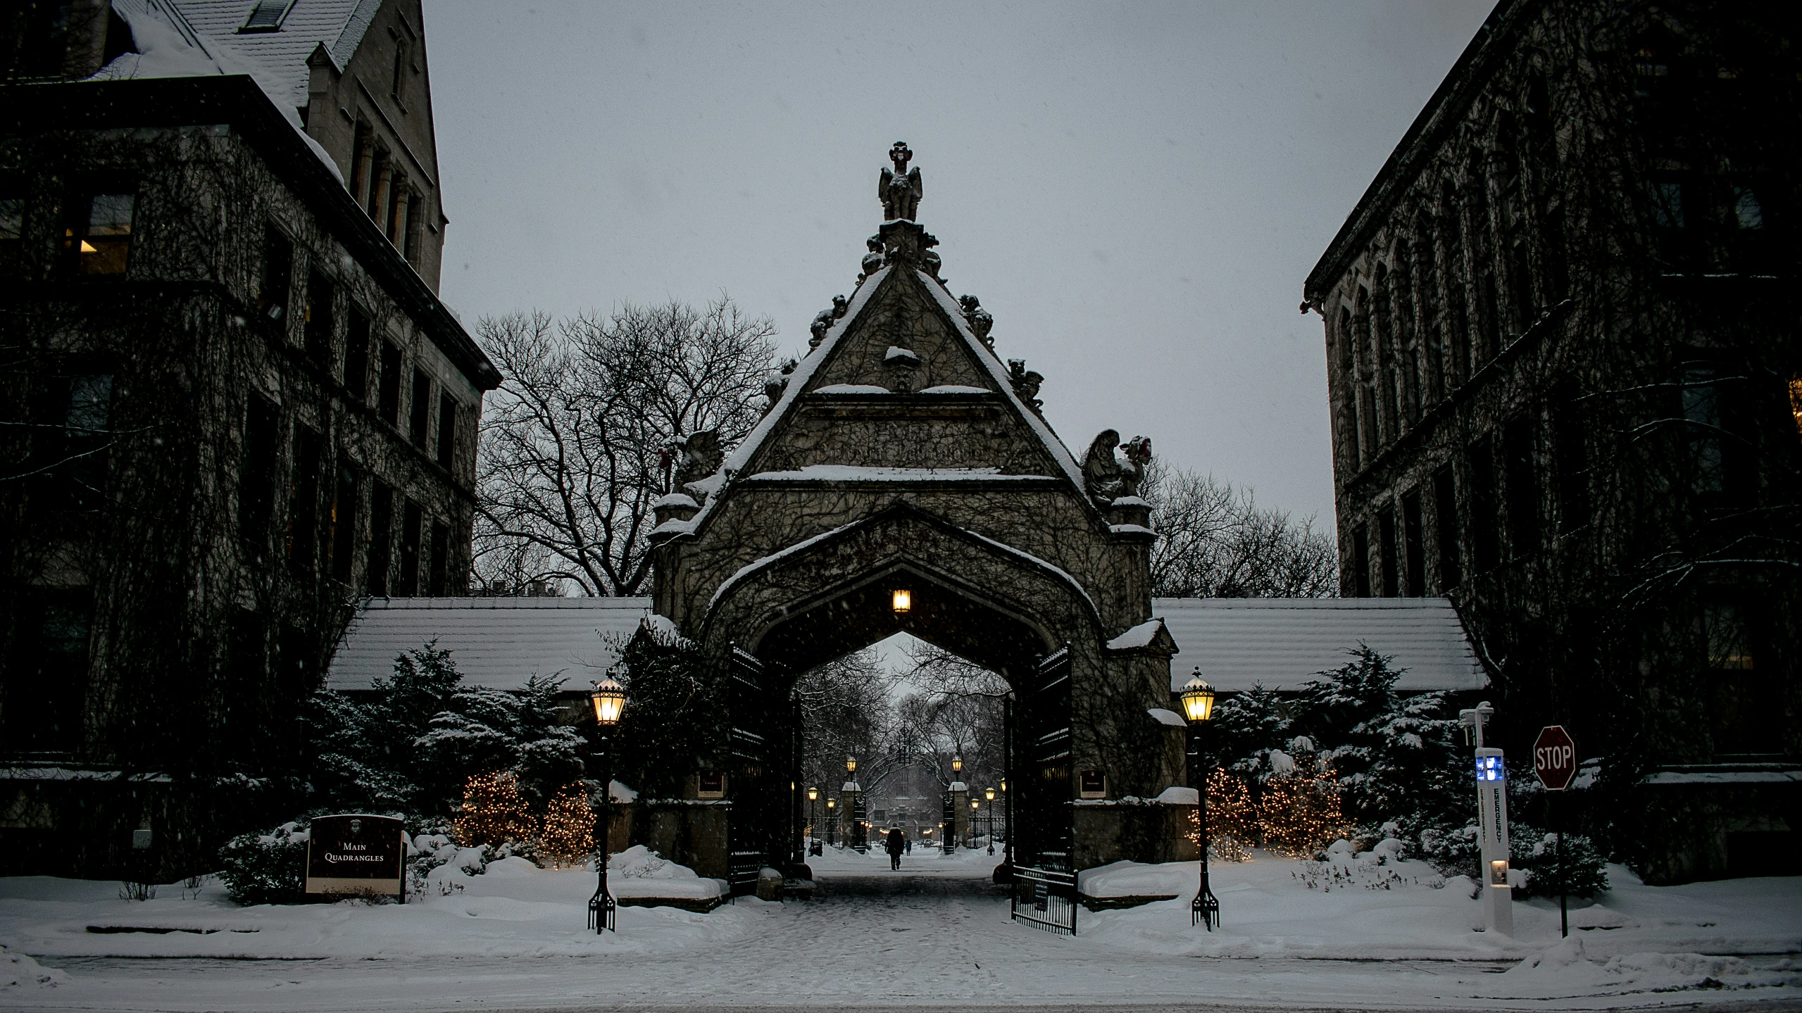
[(1195, 665), (1215, 689), (1301, 689), (1344, 665), (1361, 642), (1407, 669), (1397, 689), (1488, 685), (1447, 598), (1151, 598), (1151, 611), (1182, 649), (1169, 665), (1171, 692)]

